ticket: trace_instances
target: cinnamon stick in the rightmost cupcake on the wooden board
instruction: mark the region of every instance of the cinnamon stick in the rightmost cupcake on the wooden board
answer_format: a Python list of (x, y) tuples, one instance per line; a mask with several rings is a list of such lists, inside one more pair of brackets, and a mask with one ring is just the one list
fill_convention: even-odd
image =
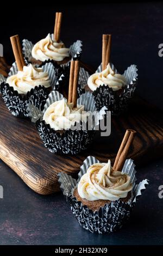
[(111, 52), (111, 35), (103, 34), (102, 70), (106, 69), (106, 66), (110, 62), (110, 52)]

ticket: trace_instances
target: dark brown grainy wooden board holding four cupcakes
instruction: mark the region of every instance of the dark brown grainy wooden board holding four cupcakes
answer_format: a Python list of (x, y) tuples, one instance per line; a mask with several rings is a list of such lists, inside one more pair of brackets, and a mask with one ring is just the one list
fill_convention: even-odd
[(129, 154), (136, 164), (149, 162), (163, 154), (163, 113), (147, 103), (136, 100), (123, 117), (112, 118), (111, 136), (99, 137), (89, 150), (77, 156), (50, 153), (41, 142), (29, 120), (11, 115), (0, 99), (0, 157), (35, 192), (50, 194), (59, 191), (57, 174), (76, 176), (83, 160), (96, 156), (100, 161), (114, 159), (127, 128), (135, 129), (133, 148)]

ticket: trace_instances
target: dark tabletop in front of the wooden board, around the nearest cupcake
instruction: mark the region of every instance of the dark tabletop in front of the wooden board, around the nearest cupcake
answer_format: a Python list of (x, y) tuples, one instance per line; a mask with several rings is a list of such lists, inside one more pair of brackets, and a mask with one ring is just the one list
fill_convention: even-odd
[(0, 185), (1, 245), (161, 245), (163, 243), (163, 161), (136, 168), (137, 178), (149, 179), (128, 223), (112, 234), (92, 234), (79, 226), (65, 197), (36, 194), (2, 161)]

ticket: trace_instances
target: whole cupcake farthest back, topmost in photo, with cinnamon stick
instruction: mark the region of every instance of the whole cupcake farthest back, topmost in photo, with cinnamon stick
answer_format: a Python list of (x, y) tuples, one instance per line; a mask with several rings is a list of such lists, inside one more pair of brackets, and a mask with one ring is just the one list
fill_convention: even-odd
[(55, 14), (54, 34), (48, 34), (45, 38), (36, 42), (23, 40), (24, 56), (32, 63), (43, 65), (46, 62), (52, 62), (59, 71), (59, 67), (63, 68), (73, 59), (79, 59), (82, 53), (82, 42), (80, 40), (74, 42), (70, 47), (66, 47), (64, 42), (60, 40), (62, 13)]

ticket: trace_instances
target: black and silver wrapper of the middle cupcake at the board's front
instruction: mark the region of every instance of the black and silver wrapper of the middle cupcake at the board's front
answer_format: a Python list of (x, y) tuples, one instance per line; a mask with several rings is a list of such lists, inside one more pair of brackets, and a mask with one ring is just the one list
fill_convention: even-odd
[[(98, 112), (95, 113), (96, 107), (93, 96), (90, 93), (85, 93), (78, 99), (77, 104), (84, 105), (85, 111), (95, 113), (92, 129), (83, 129), (83, 123), (80, 123), (80, 130), (74, 129), (72, 126), (71, 129), (68, 130), (55, 131), (48, 124), (46, 124), (44, 120), (42, 120), (43, 114), (53, 102), (63, 98), (64, 96), (62, 94), (57, 91), (53, 91), (51, 94), (49, 94), (43, 111), (39, 111), (39, 109), (37, 109), (34, 105), (29, 105), (29, 115), (32, 118), (32, 121), (35, 123), (42, 142), (50, 152), (60, 155), (76, 155), (80, 151), (87, 149), (92, 143), (95, 136), (95, 127), (99, 125), (99, 120), (104, 118), (105, 108), (101, 110), (100, 114)], [(85, 124), (85, 127), (87, 127), (87, 124)]]

